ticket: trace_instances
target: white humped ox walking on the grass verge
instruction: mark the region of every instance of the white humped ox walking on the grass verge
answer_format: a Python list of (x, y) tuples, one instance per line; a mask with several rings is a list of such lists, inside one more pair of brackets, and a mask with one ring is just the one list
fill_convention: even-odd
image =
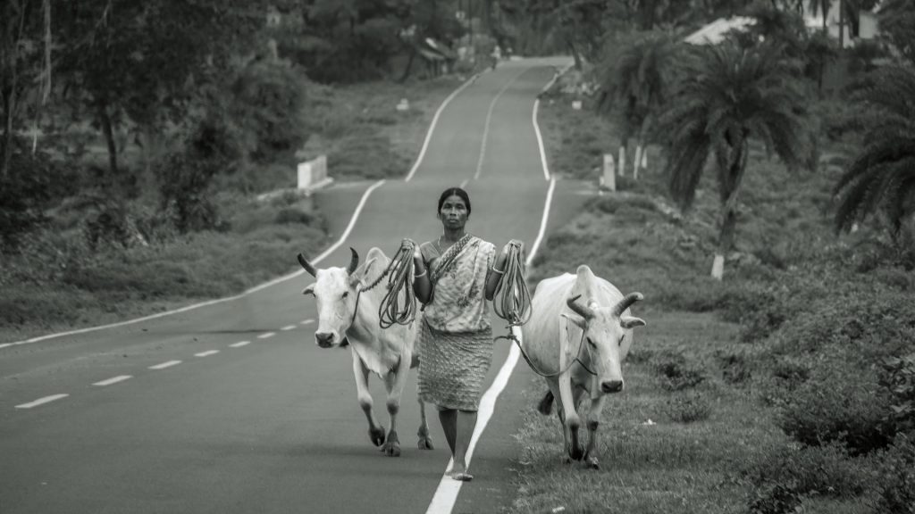
[[(522, 328), (523, 346), (532, 369), (550, 375), (544, 377), (550, 391), (540, 403), (540, 412), (549, 414), (554, 398), (559, 399), (566, 462), (584, 458), (588, 466), (598, 467), (595, 443), (600, 412), (605, 395), (623, 390), (620, 367), (632, 345), (632, 328), (645, 325), (630, 316), (629, 307), (641, 299), (640, 293), (623, 296), (585, 265), (576, 274), (564, 273), (537, 284), (531, 320)], [(577, 407), (586, 392), (591, 408), (583, 452)]]

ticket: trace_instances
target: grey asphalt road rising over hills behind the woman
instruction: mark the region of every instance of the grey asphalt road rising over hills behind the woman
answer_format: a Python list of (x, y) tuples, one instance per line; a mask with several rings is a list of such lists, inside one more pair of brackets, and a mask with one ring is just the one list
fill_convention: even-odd
[[(461, 91), (441, 112), (414, 176), (376, 188), (346, 243), (318, 267), (345, 265), (349, 246), (391, 254), (404, 237), (435, 238), (438, 194), (465, 183), (468, 231), (499, 247), (512, 238), (532, 244), (549, 187), (533, 103), (561, 63), (506, 63)], [(369, 186), (318, 195), (325, 209), (345, 213), (331, 221), (338, 236)], [(556, 188), (551, 226), (574, 213), (580, 188)], [(436, 449), (421, 451), (412, 373), (399, 421), (402, 456), (384, 457), (371, 445), (350, 351), (314, 343), (315, 305), (300, 294), (309, 279), (0, 348), (0, 513), (425, 512), (449, 457), (435, 410), (427, 411)], [(493, 327), (500, 333), (504, 323), (494, 319)], [(489, 380), (507, 354), (501, 342)], [(530, 377), (520, 363), (455, 512), (490, 512), (513, 498), (511, 434), (518, 412), (530, 408), (520, 403)], [(375, 377), (371, 390), (387, 424)], [(68, 396), (23, 408), (58, 394)]]

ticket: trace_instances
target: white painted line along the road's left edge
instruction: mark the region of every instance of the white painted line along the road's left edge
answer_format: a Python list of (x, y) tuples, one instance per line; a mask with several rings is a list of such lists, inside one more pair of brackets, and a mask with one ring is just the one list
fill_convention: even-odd
[[(416, 173), (416, 170), (419, 168), (420, 163), (423, 162), (423, 156), (425, 155), (425, 150), (429, 145), (429, 141), (432, 139), (432, 133), (436, 129), (436, 123), (438, 123), (439, 114), (441, 114), (442, 111), (445, 110), (445, 107), (447, 106), (447, 104), (449, 102), (451, 102), (451, 100), (454, 97), (458, 96), (458, 93), (460, 93), (460, 91), (464, 91), (470, 84), (475, 82), (478, 77), (479, 77), (479, 73), (470, 77), (467, 81), (465, 81), (463, 84), (461, 84), (461, 86), (457, 90), (452, 91), (451, 94), (449, 94), (447, 96), (447, 98), (442, 102), (442, 104), (438, 106), (438, 109), (436, 110), (436, 115), (433, 116), (432, 123), (429, 125), (429, 130), (428, 130), (428, 132), (425, 133), (425, 141), (423, 142), (423, 148), (422, 148), (422, 150), (420, 150), (419, 156), (416, 157), (416, 162), (414, 163), (413, 167), (410, 168), (410, 173), (405, 178), (406, 182), (409, 182), (410, 179), (413, 178), (414, 174)], [(371, 187), (366, 189), (364, 193), (362, 193), (362, 198), (359, 201), (359, 205), (356, 207), (356, 210), (352, 213), (352, 218), (350, 218), (350, 224), (347, 225), (347, 228), (343, 232), (343, 234), (340, 236), (340, 239), (337, 240), (337, 242), (335, 242), (334, 244), (330, 245), (330, 247), (327, 250), (325, 250), (324, 252), (321, 252), (321, 254), (318, 255), (318, 257), (315, 257), (314, 259), (312, 259), (311, 260), (312, 264), (318, 264), (318, 262), (321, 262), (324, 259), (326, 259), (328, 257), (328, 255), (335, 252), (343, 244), (343, 241), (346, 241), (347, 238), (350, 237), (350, 231), (352, 231), (352, 228), (356, 225), (356, 220), (359, 219), (359, 215), (362, 211), (362, 208), (365, 206), (366, 200), (369, 199), (369, 196), (371, 195), (372, 191), (374, 191), (378, 187), (381, 187), (384, 184), (384, 182), (385, 182), (385, 180), (379, 180), (378, 182), (375, 182), (374, 184), (372, 184)], [(23, 339), (21, 341), (14, 341), (12, 343), (4, 343), (4, 344), (0, 345), (0, 349), (6, 348), (9, 346), (18, 346), (18, 345), (27, 345), (29, 343), (37, 343), (38, 341), (45, 341), (45, 340), (53, 339), (56, 337), (76, 336), (79, 334), (86, 334), (88, 332), (104, 330), (105, 328), (124, 327), (125, 325), (133, 325), (135, 323), (149, 321), (150, 319), (156, 319), (159, 317), (172, 316), (175, 314), (188, 312), (190, 310), (199, 309), (200, 307), (206, 307), (209, 305), (217, 305), (217, 304), (221, 304), (224, 302), (231, 302), (232, 300), (237, 300), (239, 298), (247, 296), (248, 294), (256, 293), (256, 292), (261, 291), (262, 289), (266, 289), (267, 287), (270, 287), (272, 285), (280, 284), (282, 282), (295, 278), (302, 273), (305, 273), (305, 270), (299, 270), (294, 273), (289, 273), (285, 276), (275, 278), (274, 280), (271, 280), (270, 282), (266, 282), (264, 284), (254, 286), (251, 289), (243, 292), (242, 294), (235, 294), (234, 296), (227, 296), (225, 298), (217, 298), (215, 300), (201, 302), (199, 304), (187, 305), (187, 306), (184, 306), (179, 309), (172, 310), (172, 311), (160, 312), (160, 313), (156, 313), (156, 314), (150, 315), (150, 316), (137, 317), (135, 319), (128, 319), (126, 321), (110, 323), (108, 325), (100, 325), (98, 327), (85, 327), (85, 328), (80, 328), (77, 330), (69, 330), (67, 332), (58, 332), (56, 334), (47, 334), (45, 336), (31, 337), (29, 339)], [(303, 323), (303, 325), (304, 325), (304, 323)]]

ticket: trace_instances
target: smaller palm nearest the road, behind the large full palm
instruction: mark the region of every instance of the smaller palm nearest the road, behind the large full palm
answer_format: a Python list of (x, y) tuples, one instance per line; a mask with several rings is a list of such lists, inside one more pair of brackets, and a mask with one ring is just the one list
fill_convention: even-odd
[(639, 168), (645, 161), (642, 150), (647, 135), (651, 132), (655, 112), (667, 95), (674, 51), (670, 36), (651, 32), (624, 48), (604, 74), (601, 101), (597, 108), (607, 116), (616, 112), (621, 125), (619, 175), (626, 170), (626, 147), (630, 135), (638, 129), (632, 169), (633, 177), (639, 176)]

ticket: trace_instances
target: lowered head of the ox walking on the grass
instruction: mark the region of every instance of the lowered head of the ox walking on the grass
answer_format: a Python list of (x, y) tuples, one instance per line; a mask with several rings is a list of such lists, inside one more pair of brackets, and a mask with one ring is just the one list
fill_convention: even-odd
[[(584, 332), (581, 344), (587, 346), (591, 356), (592, 370), (597, 373), (600, 391), (619, 392), (623, 390), (623, 373), (620, 367), (622, 359), (629, 352), (632, 342), (630, 329), (644, 327), (644, 320), (630, 316), (630, 305), (642, 299), (641, 293), (627, 294), (617, 305), (597, 305), (591, 302), (584, 305), (580, 295), (566, 300), (566, 305), (575, 315), (565, 316)], [(576, 316), (577, 315), (577, 316)], [(571, 341), (573, 351), (578, 349), (579, 341)]]

